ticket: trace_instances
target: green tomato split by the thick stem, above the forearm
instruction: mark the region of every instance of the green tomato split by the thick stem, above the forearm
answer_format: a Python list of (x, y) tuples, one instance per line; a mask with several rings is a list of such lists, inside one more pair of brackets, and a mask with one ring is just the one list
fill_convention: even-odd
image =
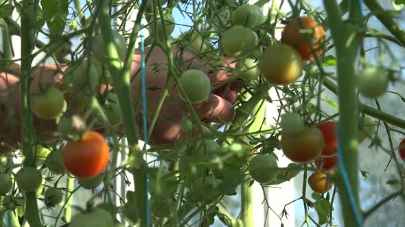
[[(119, 59), (124, 60), (126, 57), (126, 52), (128, 51), (128, 46), (124, 36), (119, 34), (118, 31), (113, 30), (112, 33), (113, 42), (117, 47), (117, 52)], [(104, 44), (104, 40), (102, 38), (102, 34), (98, 34), (97, 36), (93, 37), (93, 45), (92, 45), (93, 56), (100, 61), (101, 63), (107, 63), (107, 46)]]

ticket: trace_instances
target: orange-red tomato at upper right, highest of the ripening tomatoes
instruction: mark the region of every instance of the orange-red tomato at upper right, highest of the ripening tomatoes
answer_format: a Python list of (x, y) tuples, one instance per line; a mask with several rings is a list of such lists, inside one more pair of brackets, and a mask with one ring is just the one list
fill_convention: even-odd
[[(303, 31), (304, 29), (308, 31)], [(309, 16), (301, 16), (299, 19), (295, 18), (288, 22), (281, 33), (281, 42), (294, 47), (303, 60), (314, 58), (308, 41), (311, 42), (316, 55), (323, 54), (322, 43), (325, 42), (325, 29)]]

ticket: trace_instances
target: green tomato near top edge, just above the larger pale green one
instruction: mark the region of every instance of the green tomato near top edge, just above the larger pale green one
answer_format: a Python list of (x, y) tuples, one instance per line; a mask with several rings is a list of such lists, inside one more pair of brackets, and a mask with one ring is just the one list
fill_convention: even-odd
[(232, 14), (233, 25), (253, 29), (263, 23), (263, 12), (257, 5), (240, 5)]

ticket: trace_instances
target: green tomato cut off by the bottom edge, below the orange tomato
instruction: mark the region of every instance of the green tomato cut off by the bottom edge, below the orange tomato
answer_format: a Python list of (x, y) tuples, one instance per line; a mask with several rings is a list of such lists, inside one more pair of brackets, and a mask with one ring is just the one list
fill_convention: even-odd
[(73, 216), (69, 227), (114, 227), (114, 219), (104, 209), (94, 209), (88, 213), (78, 213)]

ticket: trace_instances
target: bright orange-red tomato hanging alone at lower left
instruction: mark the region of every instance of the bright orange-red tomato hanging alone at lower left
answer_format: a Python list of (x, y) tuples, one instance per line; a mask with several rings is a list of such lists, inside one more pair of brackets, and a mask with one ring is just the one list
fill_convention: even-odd
[(110, 157), (104, 137), (89, 131), (78, 142), (68, 142), (62, 150), (65, 169), (79, 178), (90, 178), (100, 174)]

